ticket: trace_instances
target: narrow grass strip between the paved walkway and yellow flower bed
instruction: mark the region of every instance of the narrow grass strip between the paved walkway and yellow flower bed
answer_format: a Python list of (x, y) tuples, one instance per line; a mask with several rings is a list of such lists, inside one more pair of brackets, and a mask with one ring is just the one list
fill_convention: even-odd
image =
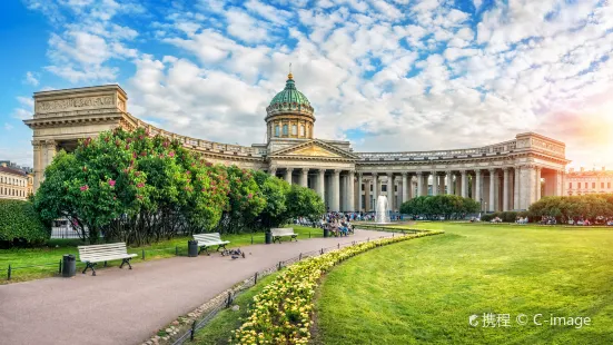
[(277, 273), (268, 275), (259, 280), (255, 286), (247, 289), (236, 297), (233, 305), (238, 305), (238, 312), (231, 309), (223, 309), (219, 312), (208, 325), (198, 331), (195, 336), (195, 343), (199, 345), (212, 344), (229, 344), (228, 339), (231, 332), (240, 327), (245, 318), (249, 316), (249, 307), (254, 296), (257, 295), (266, 285), (271, 283)]

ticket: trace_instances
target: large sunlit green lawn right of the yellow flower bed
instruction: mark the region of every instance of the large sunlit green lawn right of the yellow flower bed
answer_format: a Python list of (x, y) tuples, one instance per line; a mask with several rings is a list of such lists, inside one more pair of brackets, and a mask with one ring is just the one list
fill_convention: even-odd
[[(333, 269), (316, 302), (316, 344), (612, 344), (613, 231), (428, 223), (444, 229)], [(510, 327), (483, 327), (483, 314)], [(528, 324), (516, 323), (518, 314)], [(535, 314), (591, 317), (537, 326)], [(468, 325), (478, 315), (479, 325)]]

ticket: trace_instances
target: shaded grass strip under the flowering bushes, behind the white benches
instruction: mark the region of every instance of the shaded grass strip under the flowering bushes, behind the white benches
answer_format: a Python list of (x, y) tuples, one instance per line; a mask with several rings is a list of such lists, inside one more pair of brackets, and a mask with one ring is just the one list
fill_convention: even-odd
[[(324, 231), (319, 228), (303, 226), (293, 226), (294, 231), (298, 234), (299, 239), (309, 237), (323, 237)], [(309, 235), (310, 234), (310, 235)], [(228, 247), (244, 247), (251, 244), (251, 234), (225, 235), (224, 239), (230, 241)], [(254, 244), (264, 244), (264, 233), (254, 233)], [(132, 259), (132, 263), (142, 262), (142, 252), (145, 250), (145, 260), (160, 259), (176, 255), (176, 248), (179, 255), (187, 254), (187, 240), (190, 237), (177, 237), (168, 240), (161, 240), (156, 244), (130, 247), (128, 253), (136, 253), (139, 256)], [(46, 246), (39, 248), (12, 248), (0, 249), (0, 285), (26, 282), (58, 275), (59, 263), (65, 254), (73, 254), (78, 258), (77, 246), (82, 245), (77, 239), (50, 239)], [(108, 266), (113, 267), (120, 262), (109, 262)], [(7, 279), (8, 266), (11, 265), (11, 280)], [(23, 267), (34, 266), (34, 267)], [(80, 262), (77, 262), (77, 270), (85, 268)], [(97, 268), (98, 269), (98, 268)], [(103, 269), (100, 267), (99, 269)]]

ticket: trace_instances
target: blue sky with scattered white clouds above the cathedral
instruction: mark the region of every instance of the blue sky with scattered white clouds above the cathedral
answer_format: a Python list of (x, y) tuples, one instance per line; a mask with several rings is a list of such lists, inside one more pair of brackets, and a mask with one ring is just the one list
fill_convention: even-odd
[(315, 136), (356, 151), (535, 131), (613, 169), (612, 0), (6, 0), (0, 160), (32, 165), (32, 93), (119, 83), (167, 130), (264, 142), (288, 66)]

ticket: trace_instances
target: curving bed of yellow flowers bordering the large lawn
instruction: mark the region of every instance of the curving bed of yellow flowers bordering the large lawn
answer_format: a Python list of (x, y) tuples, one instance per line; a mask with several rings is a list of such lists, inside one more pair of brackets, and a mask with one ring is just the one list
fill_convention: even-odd
[(254, 297), (247, 321), (234, 331), (231, 344), (307, 344), (310, 338), (313, 295), (324, 273), (363, 252), (417, 237), (443, 234), (423, 231), (362, 243), (288, 266)]

